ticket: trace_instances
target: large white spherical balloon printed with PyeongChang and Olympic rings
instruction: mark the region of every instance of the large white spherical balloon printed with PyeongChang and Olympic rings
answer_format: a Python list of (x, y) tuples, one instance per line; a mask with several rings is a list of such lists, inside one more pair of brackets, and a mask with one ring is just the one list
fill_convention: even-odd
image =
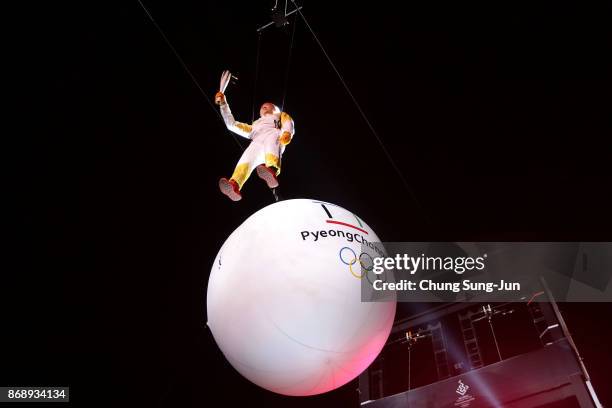
[(281, 201), (249, 217), (208, 281), (208, 325), (232, 366), (285, 395), (320, 394), (363, 372), (395, 317), (394, 301), (361, 302), (355, 258), (375, 256), (362, 243), (377, 241), (361, 219), (320, 201)]

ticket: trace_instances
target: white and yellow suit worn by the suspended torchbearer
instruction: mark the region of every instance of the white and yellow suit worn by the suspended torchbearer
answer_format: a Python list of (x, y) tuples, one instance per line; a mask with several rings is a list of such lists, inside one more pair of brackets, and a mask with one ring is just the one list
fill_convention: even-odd
[(276, 175), (280, 174), (281, 157), (285, 146), (289, 144), (295, 133), (291, 116), (285, 112), (279, 112), (277, 108), (275, 113), (260, 117), (249, 125), (234, 119), (227, 102), (221, 104), (220, 108), (225, 126), (232, 132), (251, 139), (251, 144), (238, 160), (231, 180), (242, 188), (253, 169), (260, 164), (273, 167), (276, 169)]

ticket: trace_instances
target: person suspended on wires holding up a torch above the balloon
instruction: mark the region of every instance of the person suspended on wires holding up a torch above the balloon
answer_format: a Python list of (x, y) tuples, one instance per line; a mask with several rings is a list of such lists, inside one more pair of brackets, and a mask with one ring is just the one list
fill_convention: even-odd
[(215, 95), (215, 103), (219, 105), (225, 126), (232, 132), (251, 140), (242, 153), (232, 176), (219, 180), (219, 189), (233, 201), (242, 198), (240, 190), (251, 172), (255, 170), (259, 178), (264, 180), (269, 188), (278, 187), (278, 175), (281, 171), (281, 158), (293, 135), (295, 125), (293, 119), (278, 106), (266, 102), (259, 109), (259, 119), (252, 124), (238, 122), (234, 119), (224, 91), (231, 79), (231, 73), (224, 71), (221, 75), (221, 86)]

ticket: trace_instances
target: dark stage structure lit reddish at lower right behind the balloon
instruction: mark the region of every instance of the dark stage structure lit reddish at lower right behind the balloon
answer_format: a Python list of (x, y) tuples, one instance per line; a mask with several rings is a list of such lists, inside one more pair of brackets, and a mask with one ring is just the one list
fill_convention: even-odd
[(518, 300), (432, 304), (396, 321), (359, 377), (361, 406), (601, 407), (546, 283)]

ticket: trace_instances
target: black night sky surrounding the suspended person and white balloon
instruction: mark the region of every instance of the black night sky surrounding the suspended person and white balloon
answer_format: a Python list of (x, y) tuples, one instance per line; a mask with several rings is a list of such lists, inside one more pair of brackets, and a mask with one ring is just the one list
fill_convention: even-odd
[[(209, 98), (223, 69), (239, 76), (228, 100), (249, 121), (271, 4), (145, 4)], [(89, 407), (356, 406), (355, 383), (259, 389), (205, 328), (214, 256), (272, 196), (256, 177), (239, 203), (219, 193), (240, 149), (138, 2), (25, 6), (6, 15), (21, 75), (5, 78), (19, 92), (0, 382), (70, 385)], [(301, 21), (283, 197), (342, 205), (385, 241), (612, 238), (609, 4), (309, 0), (304, 14), (418, 203)], [(262, 38), (257, 105), (280, 104), (289, 33)], [(612, 306), (561, 306), (612, 403)]]

